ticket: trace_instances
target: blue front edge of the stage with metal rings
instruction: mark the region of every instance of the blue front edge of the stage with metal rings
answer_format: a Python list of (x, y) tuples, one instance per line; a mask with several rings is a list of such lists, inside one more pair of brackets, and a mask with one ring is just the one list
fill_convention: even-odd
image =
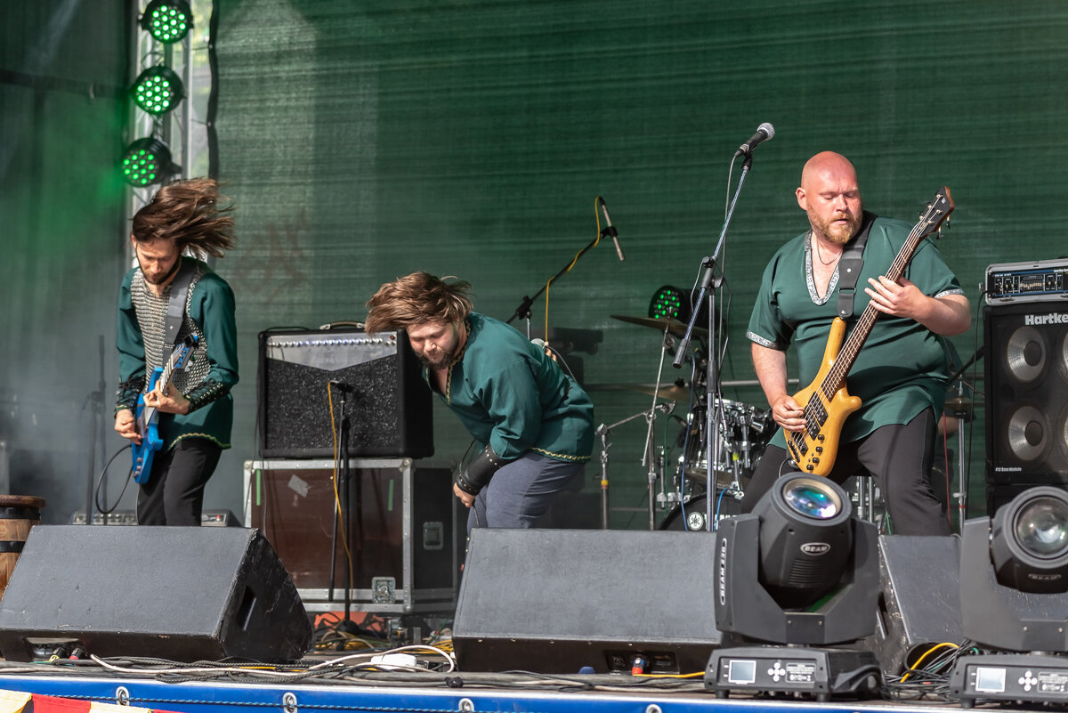
[[(599, 711), (688, 713), (697, 711), (941, 711), (948, 703), (906, 701), (788, 700), (732, 697), (719, 699), (696, 681), (633, 680), (629, 676), (520, 676), (478, 674), (366, 674), (358, 679), (270, 681), (238, 675), (236, 680), (160, 680), (148, 675), (111, 676), (103, 669), (77, 671), (63, 666), (0, 663), (0, 687), (81, 701), (120, 703), (180, 713), (236, 713), (268, 708), (300, 711)], [(167, 679), (171, 679), (171, 681)], [(220, 677), (225, 678), (225, 677)], [(266, 678), (266, 677), (263, 677)], [(173, 682), (172, 682), (173, 681)], [(1006, 710), (1006, 709), (1001, 709)]]

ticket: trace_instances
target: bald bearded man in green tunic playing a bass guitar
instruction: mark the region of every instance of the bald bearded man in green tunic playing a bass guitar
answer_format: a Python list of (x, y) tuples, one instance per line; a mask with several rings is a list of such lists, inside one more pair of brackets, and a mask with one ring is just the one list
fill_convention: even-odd
[[(844, 156), (813, 156), (802, 171), (797, 201), (808, 216), (810, 229), (771, 258), (749, 322), (756, 375), (781, 428), (764, 451), (741, 509), (749, 512), (776, 478), (801, 470), (799, 462), (813, 471), (822, 459), (824, 465), (833, 462), (826, 475), (837, 482), (864, 472), (877, 479), (895, 534), (948, 535), (948, 521), (930, 487), (936, 424), (948, 377), (941, 336), (969, 329), (968, 298), (922, 225), (863, 210), (857, 171)], [(937, 210), (934, 215), (931, 229), (941, 222)], [(861, 251), (850, 250), (857, 244), (863, 245)], [(900, 278), (888, 279), (910, 244), (915, 247), (905, 255)], [(787, 390), (786, 350), (790, 344), (796, 347), (802, 385), (819, 380), (835, 362), (838, 354), (828, 345), (832, 322), (843, 308), (839, 292), (850, 306), (848, 288), (839, 290), (852, 276), (846, 265), (858, 266), (860, 272), (845, 333), (869, 303), (878, 318), (853, 355), (843, 393), (814, 403), (818, 399), (810, 399), (807, 390)], [(851, 412), (841, 432), (827, 428), (814, 437), (824, 418), (833, 425), (835, 409), (841, 411), (843, 405)], [(824, 406), (830, 416), (813, 413)], [(790, 449), (787, 439), (794, 444)]]

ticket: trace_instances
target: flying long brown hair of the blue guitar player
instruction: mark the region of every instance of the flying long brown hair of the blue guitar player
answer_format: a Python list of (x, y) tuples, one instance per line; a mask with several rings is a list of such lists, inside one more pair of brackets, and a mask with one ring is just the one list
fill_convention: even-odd
[(234, 247), (233, 205), (214, 178), (186, 178), (163, 186), (132, 219), (138, 242), (173, 241), (199, 256), (222, 257)]

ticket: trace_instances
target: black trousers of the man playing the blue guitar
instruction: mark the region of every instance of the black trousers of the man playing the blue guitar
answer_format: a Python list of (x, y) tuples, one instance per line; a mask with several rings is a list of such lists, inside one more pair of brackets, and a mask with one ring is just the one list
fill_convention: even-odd
[(207, 439), (186, 438), (160, 450), (152, 475), (137, 496), (139, 525), (200, 525), (204, 486), (219, 464), (222, 448)]

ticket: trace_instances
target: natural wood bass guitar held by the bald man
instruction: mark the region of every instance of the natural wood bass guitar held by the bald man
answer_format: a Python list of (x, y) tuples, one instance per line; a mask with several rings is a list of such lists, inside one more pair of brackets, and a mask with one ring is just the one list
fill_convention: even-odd
[[(953, 208), (949, 189), (943, 186), (934, 195), (934, 200), (928, 204), (920, 222), (909, 233), (909, 238), (897, 253), (893, 265), (886, 270), (888, 279), (897, 282), (897, 279), (905, 273), (905, 268), (912, 259), (920, 241), (939, 229)], [(831, 333), (827, 339), (823, 364), (819, 374), (806, 389), (794, 395), (794, 400), (804, 410), (805, 427), (803, 431), (786, 433), (786, 449), (794, 464), (803, 472), (827, 476), (834, 466), (842, 426), (849, 414), (861, 408), (860, 397), (850, 396), (846, 391), (846, 375), (857, 361), (857, 355), (880, 314), (869, 301), (844, 345), (842, 338), (846, 333), (846, 322), (841, 317), (835, 317), (831, 323)]]

